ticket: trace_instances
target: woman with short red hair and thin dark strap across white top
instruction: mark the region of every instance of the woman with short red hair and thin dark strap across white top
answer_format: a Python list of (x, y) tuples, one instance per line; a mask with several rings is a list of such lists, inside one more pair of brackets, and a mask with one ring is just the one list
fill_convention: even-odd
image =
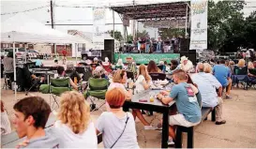
[(113, 87), (106, 93), (108, 112), (102, 112), (96, 124), (97, 133), (102, 133), (104, 148), (139, 148), (135, 122), (122, 106), (126, 93), (122, 88)]

